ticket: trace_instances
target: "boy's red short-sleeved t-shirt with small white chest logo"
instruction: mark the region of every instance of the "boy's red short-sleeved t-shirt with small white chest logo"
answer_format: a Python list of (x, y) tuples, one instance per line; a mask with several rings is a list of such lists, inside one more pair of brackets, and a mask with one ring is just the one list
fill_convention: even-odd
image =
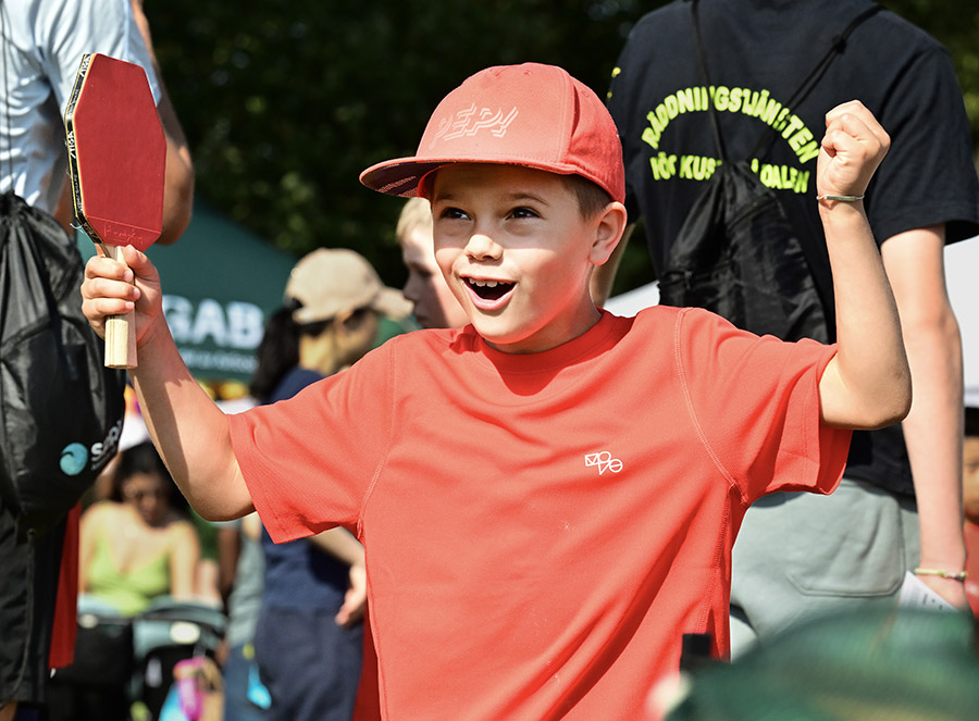
[(683, 633), (727, 654), (747, 506), (839, 482), (833, 352), (672, 308), (533, 355), (422, 331), (232, 439), (273, 538), (364, 544), (385, 718), (634, 721)]

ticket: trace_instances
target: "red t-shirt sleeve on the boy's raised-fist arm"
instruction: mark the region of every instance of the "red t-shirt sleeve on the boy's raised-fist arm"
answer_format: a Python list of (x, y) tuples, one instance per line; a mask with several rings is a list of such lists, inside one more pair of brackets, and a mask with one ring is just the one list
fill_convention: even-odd
[(819, 380), (835, 346), (784, 343), (689, 309), (678, 315), (687, 410), (715, 464), (749, 504), (776, 490), (831, 493), (851, 432), (820, 421)]

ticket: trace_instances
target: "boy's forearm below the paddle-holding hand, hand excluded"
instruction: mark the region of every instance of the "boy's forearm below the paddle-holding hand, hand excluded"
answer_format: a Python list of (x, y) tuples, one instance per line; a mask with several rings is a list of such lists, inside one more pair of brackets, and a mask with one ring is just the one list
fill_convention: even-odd
[(197, 512), (216, 521), (251, 511), (227, 417), (190, 375), (162, 319), (131, 374), (150, 436)]

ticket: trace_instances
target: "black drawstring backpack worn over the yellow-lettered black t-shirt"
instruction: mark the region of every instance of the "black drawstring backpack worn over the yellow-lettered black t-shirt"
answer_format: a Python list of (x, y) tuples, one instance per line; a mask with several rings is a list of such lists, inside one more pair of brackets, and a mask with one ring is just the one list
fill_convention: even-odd
[[(808, 95), (850, 34), (879, 10), (873, 5), (864, 11), (834, 38), (786, 105)], [(692, 0), (691, 11), (702, 80), (710, 87), (697, 0)], [(720, 163), (670, 247), (659, 278), (659, 302), (706, 308), (758, 335), (828, 341), (826, 312), (798, 235), (778, 196), (758, 179), (748, 160), (767, 152), (774, 130), (765, 128), (748, 159), (732, 161), (724, 153), (712, 101), (708, 109)]]

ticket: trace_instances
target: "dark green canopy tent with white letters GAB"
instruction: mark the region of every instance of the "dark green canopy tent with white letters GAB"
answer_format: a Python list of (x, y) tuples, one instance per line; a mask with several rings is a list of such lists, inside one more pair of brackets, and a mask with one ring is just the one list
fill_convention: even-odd
[[(78, 236), (87, 259), (94, 246)], [(147, 254), (160, 271), (163, 311), (194, 376), (208, 385), (247, 383), (265, 319), (282, 306), (296, 258), (199, 199), (181, 239)]]

